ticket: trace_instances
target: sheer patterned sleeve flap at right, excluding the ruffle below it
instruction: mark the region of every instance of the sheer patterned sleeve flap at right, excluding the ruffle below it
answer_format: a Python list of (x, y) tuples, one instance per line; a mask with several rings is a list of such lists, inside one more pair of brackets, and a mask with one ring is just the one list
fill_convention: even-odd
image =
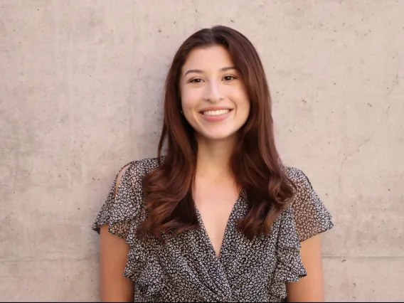
[(297, 186), (292, 212), (300, 242), (333, 228), (331, 214), (314, 191), (309, 178), (299, 169), (292, 169), (292, 180)]

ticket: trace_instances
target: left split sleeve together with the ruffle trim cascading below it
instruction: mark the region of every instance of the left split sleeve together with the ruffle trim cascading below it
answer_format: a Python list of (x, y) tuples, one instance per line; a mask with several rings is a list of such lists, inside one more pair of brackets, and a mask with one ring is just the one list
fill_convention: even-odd
[(97, 233), (100, 233), (102, 225), (108, 224), (108, 231), (112, 235), (129, 244), (127, 264), (122, 275), (134, 281), (135, 302), (144, 302), (146, 299), (147, 302), (154, 302), (154, 296), (164, 287), (164, 272), (156, 257), (158, 243), (149, 238), (138, 240), (136, 235), (140, 223), (147, 217), (142, 181), (156, 164), (155, 159), (132, 161), (119, 170), (122, 174), (115, 176), (107, 199), (92, 224), (92, 230)]

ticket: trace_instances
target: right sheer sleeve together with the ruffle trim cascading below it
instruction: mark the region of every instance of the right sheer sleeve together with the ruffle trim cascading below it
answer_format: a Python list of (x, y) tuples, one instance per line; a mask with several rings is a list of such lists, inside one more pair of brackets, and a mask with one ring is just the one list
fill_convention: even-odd
[(287, 297), (286, 282), (296, 282), (307, 275), (300, 255), (300, 242), (333, 227), (331, 215), (299, 169), (287, 168), (296, 185), (291, 205), (274, 225), (278, 230), (277, 266), (270, 284), (270, 300)]

